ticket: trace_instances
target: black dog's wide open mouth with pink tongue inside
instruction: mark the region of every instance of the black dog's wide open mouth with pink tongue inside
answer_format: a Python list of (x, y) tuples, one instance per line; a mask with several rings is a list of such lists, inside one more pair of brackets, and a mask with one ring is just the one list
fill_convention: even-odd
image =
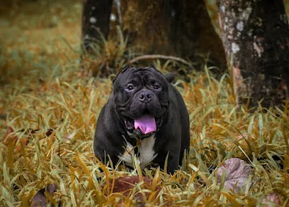
[(157, 131), (163, 122), (163, 116), (160, 118), (151, 117), (150, 115), (143, 115), (136, 120), (126, 117), (124, 124), (129, 132), (140, 137), (149, 137)]

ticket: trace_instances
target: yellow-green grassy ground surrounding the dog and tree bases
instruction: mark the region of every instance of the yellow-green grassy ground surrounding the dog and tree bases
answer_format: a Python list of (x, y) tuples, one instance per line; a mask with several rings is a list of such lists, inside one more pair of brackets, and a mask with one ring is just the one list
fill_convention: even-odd
[[(111, 80), (80, 73), (81, 2), (17, 2), (0, 3), (0, 206), (30, 206), (46, 186), (40, 194), (62, 206), (289, 205), (288, 103), (236, 107), (230, 75), (216, 80), (204, 66), (175, 84), (190, 115), (182, 168), (170, 176), (104, 166), (92, 140)], [(155, 65), (165, 71), (171, 63)], [(231, 158), (251, 171), (220, 175)], [(111, 188), (126, 176), (143, 181), (126, 193)], [(240, 177), (243, 187), (227, 188)]]

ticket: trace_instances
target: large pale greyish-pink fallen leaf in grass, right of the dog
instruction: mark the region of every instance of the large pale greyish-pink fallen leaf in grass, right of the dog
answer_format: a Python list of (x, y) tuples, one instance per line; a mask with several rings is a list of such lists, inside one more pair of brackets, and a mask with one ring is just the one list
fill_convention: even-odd
[(251, 174), (251, 166), (239, 158), (227, 159), (217, 170), (218, 184), (221, 182), (223, 171), (226, 173), (224, 188), (232, 189), (238, 193), (246, 186), (246, 181)]

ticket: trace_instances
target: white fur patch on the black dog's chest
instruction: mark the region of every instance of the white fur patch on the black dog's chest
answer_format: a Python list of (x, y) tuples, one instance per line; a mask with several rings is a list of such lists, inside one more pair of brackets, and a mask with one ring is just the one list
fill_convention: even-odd
[(123, 160), (128, 164), (129, 166), (133, 166), (133, 157), (136, 155), (137, 156), (137, 161), (139, 166), (141, 166), (141, 169), (143, 169), (146, 165), (151, 163), (153, 159), (158, 156), (156, 152), (153, 150), (153, 146), (155, 145), (156, 142), (156, 134), (153, 134), (151, 137), (148, 137), (146, 139), (142, 139), (138, 146), (138, 154), (134, 153), (134, 148), (131, 143), (126, 141), (126, 138), (124, 137), (125, 140), (125, 145), (126, 145), (126, 152), (124, 154), (120, 154), (118, 157), (119, 159)]

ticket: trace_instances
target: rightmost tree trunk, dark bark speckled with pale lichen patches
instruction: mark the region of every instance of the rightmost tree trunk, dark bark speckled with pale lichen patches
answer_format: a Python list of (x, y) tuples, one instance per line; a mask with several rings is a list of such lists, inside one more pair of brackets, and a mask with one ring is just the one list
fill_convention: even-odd
[(236, 102), (282, 105), (288, 98), (289, 27), (283, 0), (219, 0), (219, 22)]

